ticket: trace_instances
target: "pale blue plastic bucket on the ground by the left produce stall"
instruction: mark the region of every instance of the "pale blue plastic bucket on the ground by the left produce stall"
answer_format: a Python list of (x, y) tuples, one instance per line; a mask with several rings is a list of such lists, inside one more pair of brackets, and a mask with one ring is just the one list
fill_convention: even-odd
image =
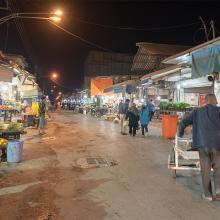
[(22, 160), (23, 141), (13, 140), (8, 142), (7, 147), (7, 162), (19, 163)]

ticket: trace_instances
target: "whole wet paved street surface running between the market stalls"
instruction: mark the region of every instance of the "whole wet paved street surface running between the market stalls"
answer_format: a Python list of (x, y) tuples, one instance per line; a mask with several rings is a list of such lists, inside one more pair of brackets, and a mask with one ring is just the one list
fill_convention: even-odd
[(172, 179), (172, 143), (160, 135), (151, 126), (145, 138), (122, 136), (113, 122), (53, 114), (43, 138), (28, 129), (22, 163), (0, 165), (0, 219), (219, 219), (220, 203), (201, 199), (199, 173)]

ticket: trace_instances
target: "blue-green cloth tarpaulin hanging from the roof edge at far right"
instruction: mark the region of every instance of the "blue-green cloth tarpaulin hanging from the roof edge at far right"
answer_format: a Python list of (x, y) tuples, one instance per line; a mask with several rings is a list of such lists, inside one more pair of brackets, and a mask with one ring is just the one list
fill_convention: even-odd
[(220, 45), (192, 53), (192, 78), (220, 72)]

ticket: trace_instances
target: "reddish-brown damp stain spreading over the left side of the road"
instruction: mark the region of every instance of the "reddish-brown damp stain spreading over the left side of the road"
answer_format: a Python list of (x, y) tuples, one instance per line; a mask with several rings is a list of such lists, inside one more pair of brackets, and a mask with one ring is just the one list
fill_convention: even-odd
[[(87, 170), (67, 166), (73, 163), (72, 157), (59, 157), (65, 152), (75, 155), (77, 149), (84, 153), (86, 147), (80, 147), (90, 146), (87, 138), (81, 140), (77, 134), (73, 136), (73, 131), (69, 125), (50, 123), (47, 136), (55, 136), (56, 141), (42, 140), (36, 131), (29, 132), (23, 162), (0, 175), (1, 216), (7, 220), (104, 218), (104, 207), (89, 193), (108, 180), (83, 180)], [(60, 158), (71, 161), (62, 163)]]

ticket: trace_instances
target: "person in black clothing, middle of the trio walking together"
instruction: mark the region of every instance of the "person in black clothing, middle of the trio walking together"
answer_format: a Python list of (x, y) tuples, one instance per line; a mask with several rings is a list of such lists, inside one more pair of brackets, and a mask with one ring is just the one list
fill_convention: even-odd
[(129, 134), (135, 136), (139, 121), (139, 112), (135, 103), (133, 103), (132, 107), (128, 110), (125, 119), (129, 119)]

